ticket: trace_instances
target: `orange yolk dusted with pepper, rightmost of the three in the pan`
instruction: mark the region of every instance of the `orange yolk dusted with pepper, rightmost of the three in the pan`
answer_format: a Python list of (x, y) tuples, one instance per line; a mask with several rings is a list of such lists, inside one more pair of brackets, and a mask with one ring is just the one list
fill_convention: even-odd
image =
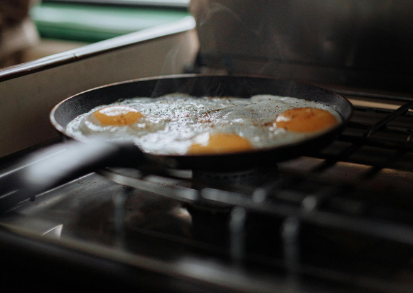
[(306, 107), (284, 111), (275, 123), (288, 131), (311, 132), (335, 126), (338, 121), (329, 111)]

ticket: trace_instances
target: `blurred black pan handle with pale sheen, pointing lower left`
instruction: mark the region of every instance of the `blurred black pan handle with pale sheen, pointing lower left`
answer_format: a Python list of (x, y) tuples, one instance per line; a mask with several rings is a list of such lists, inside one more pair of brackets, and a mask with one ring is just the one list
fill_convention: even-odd
[(13, 171), (0, 177), (10, 195), (0, 197), (0, 211), (18, 202), (105, 167), (136, 167), (147, 162), (132, 143), (70, 140), (24, 158)]

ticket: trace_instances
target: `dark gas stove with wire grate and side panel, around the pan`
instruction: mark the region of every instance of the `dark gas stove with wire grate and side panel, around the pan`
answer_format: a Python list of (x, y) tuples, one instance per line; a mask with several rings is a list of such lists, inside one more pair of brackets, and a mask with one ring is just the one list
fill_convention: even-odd
[[(8, 291), (413, 291), (412, 42), (403, 24), (412, 18), (399, 13), (411, 10), (388, 1), (373, 9), (359, 1), (287, 1), (275, 9), (279, 3), (268, 1), (283, 20), (272, 22), (264, 6), (231, 10), (230, 2), (191, 1), (195, 19), (207, 17), (203, 28), (198, 21), (200, 43), (189, 17), (0, 70), (1, 109), (8, 109), (0, 129)], [(240, 26), (237, 13), (245, 11), (257, 14)], [(354, 15), (361, 17), (354, 22)], [(359, 34), (349, 33), (354, 27)], [(381, 58), (388, 44), (381, 37), (403, 46)], [(48, 121), (57, 102), (100, 85), (185, 71), (309, 81), (348, 98), (353, 115), (328, 146), (265, 168), (103, 168), (19, 197), (23, 186), (12, 178), (36, 164), (22, 158), (61, 143)]]

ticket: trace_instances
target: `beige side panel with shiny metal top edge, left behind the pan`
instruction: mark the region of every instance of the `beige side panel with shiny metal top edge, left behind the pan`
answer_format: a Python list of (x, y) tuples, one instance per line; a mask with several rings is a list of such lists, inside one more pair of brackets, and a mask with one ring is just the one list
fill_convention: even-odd
[(56, 103), (121, 80), (182, 73), (198, 52), (191, 17), (0, 69), (0, 157), (58, 136)]

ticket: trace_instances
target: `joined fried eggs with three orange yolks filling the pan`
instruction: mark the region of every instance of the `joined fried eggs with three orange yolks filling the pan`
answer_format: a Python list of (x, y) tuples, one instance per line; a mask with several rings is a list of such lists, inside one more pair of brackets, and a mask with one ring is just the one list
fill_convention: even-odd
[(202, 155), (299, 142), (340, 121), (334, 109), (299, 98), (174, 93), (101, 105), (78, 116), (66, 131), (78, 140), (94, 135), (106, 140), (129, 140), (147, 153)]

